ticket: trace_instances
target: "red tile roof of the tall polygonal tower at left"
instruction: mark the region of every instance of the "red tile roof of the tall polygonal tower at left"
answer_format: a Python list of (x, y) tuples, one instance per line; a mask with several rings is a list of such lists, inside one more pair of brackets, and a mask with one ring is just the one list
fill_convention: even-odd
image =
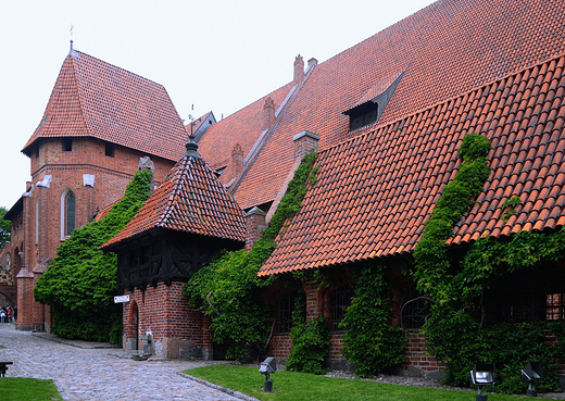
[(173, 161), (188, 140), (163, 86), (76, 50), (23, 152), (53, 137), (92, 137)]

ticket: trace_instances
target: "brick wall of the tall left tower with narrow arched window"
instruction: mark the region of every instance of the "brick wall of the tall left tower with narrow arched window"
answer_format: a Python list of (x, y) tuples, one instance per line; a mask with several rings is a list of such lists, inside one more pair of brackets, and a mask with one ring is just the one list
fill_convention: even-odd
[[(117, 146), (113, 156), (105, 155), (105, 143), (91, 138), (73, 139), (71, 151), (64, 150), (62, 139), (45, 139), (39, 151), (32, 151), (33, 190), (24, 197), (22, 222), (12, 222), (14, 243), (23, 252), (20, 266), (26, 275), (34, 275), (32, 281), (24, 275), (26, 283), (18, 285), (18, 291), (23, 291), (18, 293), (18, 301), (23, 302), (18, 302), (18, 328), (41, 329), (50, 324), (48, 309), (33, 300), (33, 289), (47, 267), (46, 262), (55, 256), (56, 248), (65, 239), (61, 208), (64, 195), (75, 195), (75, 226), (80, 227), (92, 221), (98, 210), (123, 197), (143, 155)], [(160, 158), (152, 158), (152, 162), (153, 181), (158, 185), (174, 162)], [(95, 177), (93, 186), (85, 183), (85, 175)], [(51, 180), (46, 176), (51, 176)]]

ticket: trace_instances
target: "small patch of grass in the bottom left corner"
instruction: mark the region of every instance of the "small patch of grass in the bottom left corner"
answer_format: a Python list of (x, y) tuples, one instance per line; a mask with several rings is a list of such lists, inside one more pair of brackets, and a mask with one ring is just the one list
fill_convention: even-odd
[(52, 380), (24, 377), (0, 377), (2, 401), (54, 401), (62, 400)]

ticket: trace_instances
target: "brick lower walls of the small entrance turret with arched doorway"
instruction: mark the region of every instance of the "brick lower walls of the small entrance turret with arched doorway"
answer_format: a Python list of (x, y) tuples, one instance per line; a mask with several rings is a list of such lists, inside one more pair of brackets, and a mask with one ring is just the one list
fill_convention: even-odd
[(184, 286), (179, 281), (171, 286), (160, 281), (145, 291), (125, 292), (129, 295), (129, 302), (123, 306), (126, 350), (137, 349), (172, 359), (212, 358), (210, 319), (188, 305), (187, 297), (183, 296)]

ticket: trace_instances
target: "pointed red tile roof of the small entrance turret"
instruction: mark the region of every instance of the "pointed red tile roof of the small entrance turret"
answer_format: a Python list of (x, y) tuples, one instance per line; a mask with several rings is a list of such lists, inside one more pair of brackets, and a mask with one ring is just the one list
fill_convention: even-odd
[(143, 206), (114, 238), (109, 248), (155, 228), (244, 242), (243, 211), (234, 201), (214, 172), (198, 155), (198, 145), (187, 152)]

